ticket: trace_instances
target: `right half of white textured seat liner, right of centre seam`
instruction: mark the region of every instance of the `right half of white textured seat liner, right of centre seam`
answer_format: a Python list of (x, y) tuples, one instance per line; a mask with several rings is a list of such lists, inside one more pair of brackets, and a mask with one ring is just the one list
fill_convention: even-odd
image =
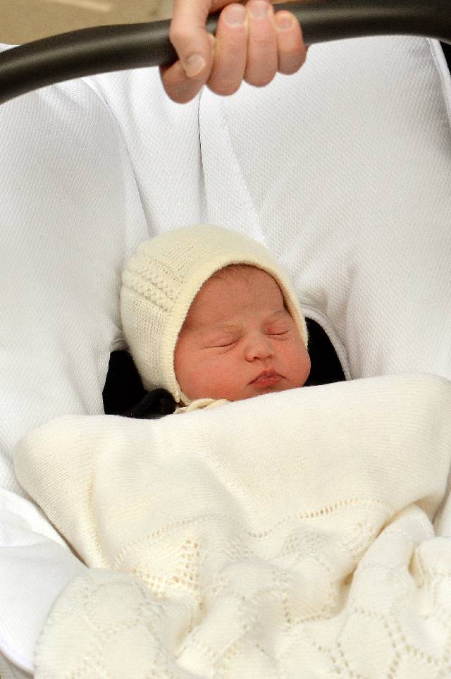
[(451, 376), (450, 74), (439, 50), (416, 37), (313, 45), (295, 77), (202, 94), (207, 219), (271, 249), (351, 377)]

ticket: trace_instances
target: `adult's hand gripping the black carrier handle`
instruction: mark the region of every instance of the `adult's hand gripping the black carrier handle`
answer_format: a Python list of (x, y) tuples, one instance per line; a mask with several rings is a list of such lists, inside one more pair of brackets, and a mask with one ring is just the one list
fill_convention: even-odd
[[(206, 18), (223, 8), (216, 36)], [(163, 87), (179, 104), (190, 102), (203, 85), (233, 94), (242, 80), (263, 87), (277, 72), (290, 75), (305, 61), (307, 47), (295, 16), (274, 11), (268, 0), (174, 0), (169, 37), (179, 61), (160, 69)]]

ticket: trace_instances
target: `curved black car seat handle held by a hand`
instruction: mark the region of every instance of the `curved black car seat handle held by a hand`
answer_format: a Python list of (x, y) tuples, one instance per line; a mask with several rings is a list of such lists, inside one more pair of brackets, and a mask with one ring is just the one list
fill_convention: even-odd
[[(305, 44), (372, 35), (419, 35), (451, 44), (450, 0), (316, 0), (275, 9), (296, 16)], [(207, 19), (213, 34), (218, 17)], [(7, 49), (0, 54), (0, 104), (63, 80), (173, 63), (169, 25), (170, 20), (97, 26)]]

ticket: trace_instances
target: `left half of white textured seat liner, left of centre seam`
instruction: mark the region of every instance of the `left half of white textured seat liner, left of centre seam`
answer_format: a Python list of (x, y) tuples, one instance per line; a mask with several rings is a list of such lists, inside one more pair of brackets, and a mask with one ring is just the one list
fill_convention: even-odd
[[(119, 100), (133, 139), (111, 114)], [(0, 652), (31, 670), (51, 603), (85, 567), (19, 501), (11, 450), (58, 414), (102, 412), (124, 262), (148, 224), (202, 220), (202, 173), (197, 102), (170, 102), (156, 69), (20, 97), (0, 106), (0, 131)]]

